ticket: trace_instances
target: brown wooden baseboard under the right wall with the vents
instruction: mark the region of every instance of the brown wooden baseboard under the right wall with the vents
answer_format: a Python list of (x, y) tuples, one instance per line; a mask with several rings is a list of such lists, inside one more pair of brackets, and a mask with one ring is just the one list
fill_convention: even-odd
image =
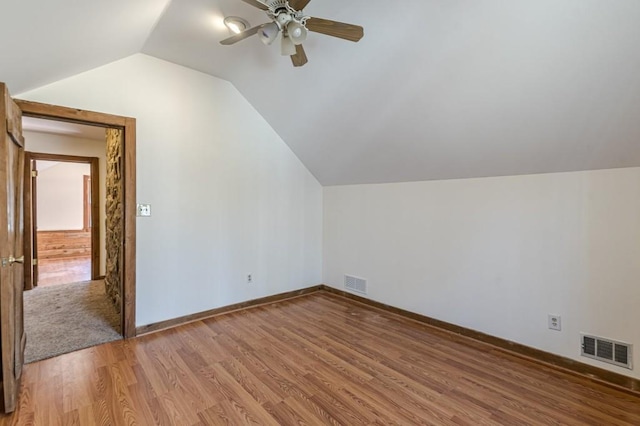
[(640, 380), (628, 377), (622, 374), (614, 373), (613, 371), (605, 370), (602, 368), (594, 367), (589, 364), (584, 364), (575, 361), (570, 358), (565, 358), (560, 355), (552, 354), (549, 352), (541, 351), (529, 346), (522, 345), (520, 343), (512, 342), (510, 340), (501, 339), (500, 337), (491, 336), (489, 334), (481, 333), (469, 328), (461, 327), (448, 322), (440, 321), (434, 318), (430, 318), (421, 314), (406, 311), (404, 309), (396, 308), (394, 306), (386, 305), (381, 302), (376, 302), (371, 299), (367, 299), (356, 294), (352, 294), (343, 290), (339, 290), (327, 285), (323, 285), (322, 291), (326, 291), (338, 296), (353, 300), (371, 306), (373, 308), (381, 309), (386, 312), (398, 314), (402, 317), (409, 318), (423, 324), (432, 326), (434, 328), (450, 332), (456, 336), (461, 336), (467, 341), (479, 342), (481, 344), (492, 346), (492, 349), (497, 349), (502, 352), (515, 355), (519, 358), (526, 359), (538, 364), (545, 365), (547, 367), (553, 367), (571, 374), (576, 374), (581, 377), (585, 377), (591, 381), (614, 387), (618, 390), (623, 390), (633, 395), (640, 393)]

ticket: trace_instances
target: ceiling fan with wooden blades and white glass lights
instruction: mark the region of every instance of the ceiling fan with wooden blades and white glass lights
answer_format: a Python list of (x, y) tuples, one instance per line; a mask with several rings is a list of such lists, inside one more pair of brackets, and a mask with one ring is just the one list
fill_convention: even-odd
[(359, 41), (364, 35), (364, 29), (358, 25), (306, 16), (302, 9), (304, 9), (311, 0), (242, 1), (264, 10), (272, 22), (249, 28), (222, 40), (220, 44), (234, 44), (258, 34), (264, 44), (270, 45), (280, 35), (281, 53), (284, 56), (291, 57), (291, 62), (293, 62), (294, 67), (301, 67), (307, 63), (307, 55), (302, 47), (302, 43), (306, 40), (308, 31), (353, 42)]

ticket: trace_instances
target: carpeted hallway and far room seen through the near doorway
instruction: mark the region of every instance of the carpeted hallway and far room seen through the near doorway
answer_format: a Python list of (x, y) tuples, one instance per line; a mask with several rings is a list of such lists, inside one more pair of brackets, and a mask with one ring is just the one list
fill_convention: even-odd
[(22, 126), (30, 172), (25, 226), (33, 240), (24, 286), (24, 362), (32, 363), (118, 340), (122, 333), (105, 287), (105, 129), (31, 117)]

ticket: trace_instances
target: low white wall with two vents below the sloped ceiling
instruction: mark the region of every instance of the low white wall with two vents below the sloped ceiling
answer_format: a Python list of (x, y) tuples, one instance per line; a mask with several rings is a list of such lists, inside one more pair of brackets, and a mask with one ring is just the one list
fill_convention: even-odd
[[(324, 189), (324, 280), (640, 378), (640, 168)], [(549, 313), (562, 331), (547, 328)], [(635, 345), (635, 370), (579, 333)]]

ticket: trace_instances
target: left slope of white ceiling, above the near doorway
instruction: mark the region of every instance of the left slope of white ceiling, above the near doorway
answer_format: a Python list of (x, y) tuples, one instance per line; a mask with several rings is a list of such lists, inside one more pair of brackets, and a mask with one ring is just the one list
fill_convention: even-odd
[(169, 0), (2, 0), (0, 79), (13, 93), (138, 53)]

